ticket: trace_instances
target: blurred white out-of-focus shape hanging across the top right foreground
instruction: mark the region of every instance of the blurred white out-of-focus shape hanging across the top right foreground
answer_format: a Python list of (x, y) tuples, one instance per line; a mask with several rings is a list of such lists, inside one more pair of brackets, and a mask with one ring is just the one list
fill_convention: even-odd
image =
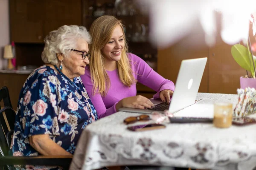
[[(222, 14), (221, 38), (230, 45), (247, 40), (250, 16), (256, 11), (255, 0), (137, 0), (150, 17), (150, 40), (165, 48), (186, 35), (201, 23), (205, 42), (215, 44), (217, 26), (216, 12)], [(197, 42), (197, 39), (194, 39)]]

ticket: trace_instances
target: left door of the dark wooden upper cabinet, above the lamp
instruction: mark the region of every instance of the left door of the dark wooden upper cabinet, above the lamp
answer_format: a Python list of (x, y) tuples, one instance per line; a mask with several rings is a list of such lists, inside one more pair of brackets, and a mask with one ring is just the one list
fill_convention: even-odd
[(10, 0), (11, 41), (43, 42), (44, 1)]

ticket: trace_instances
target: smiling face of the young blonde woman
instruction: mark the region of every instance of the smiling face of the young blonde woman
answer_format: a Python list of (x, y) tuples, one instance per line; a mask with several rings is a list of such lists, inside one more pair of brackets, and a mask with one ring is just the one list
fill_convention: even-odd
[(106, 62), (116, 62), (121, 59), (121, 53), (125, 46), (124, 34), (121, 26), (113, 30), (111, 40), (102, 48), (102, 54)]

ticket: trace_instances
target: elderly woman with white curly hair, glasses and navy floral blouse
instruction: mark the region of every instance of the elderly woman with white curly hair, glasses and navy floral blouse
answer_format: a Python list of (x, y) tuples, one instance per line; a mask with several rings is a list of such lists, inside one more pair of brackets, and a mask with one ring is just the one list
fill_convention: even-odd
[(82, 130), (97, 119), (81, 81), (91, 37), (83, 26), (61, 26), (45, 38), (45, 65), (20, 91), (13, 156), (69, 156)]

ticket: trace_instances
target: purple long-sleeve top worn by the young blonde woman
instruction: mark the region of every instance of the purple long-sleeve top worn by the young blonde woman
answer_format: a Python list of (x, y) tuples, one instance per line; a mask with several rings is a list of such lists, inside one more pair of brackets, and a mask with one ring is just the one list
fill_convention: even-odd
[[(131, 68), (134, 72), (134, 78), (143, 85), (148, 86), (157, 93), (154, 98), (160, 98), (159, 93), (165, 89), (174, 91), (175, 85), (172, 81), (163, 78), (155, 72), (143, 59), (128, 53), (128, 58), (131, 60)], [(93, 83), (90, 77), (90, 69), (86, 67), (85, 74), (81, 76), (84, 87), (97, 111), (98, 118), (102, 118), (113, 113), (116, 113), (116, 103), (120, 100), (136, 96), (136, 84), (130, 87), (122, 84), (119, 79), (117, 69), (107, 71), (111, 85), (106, 96), (101, 96), (99, 93), (93, 95)]]

